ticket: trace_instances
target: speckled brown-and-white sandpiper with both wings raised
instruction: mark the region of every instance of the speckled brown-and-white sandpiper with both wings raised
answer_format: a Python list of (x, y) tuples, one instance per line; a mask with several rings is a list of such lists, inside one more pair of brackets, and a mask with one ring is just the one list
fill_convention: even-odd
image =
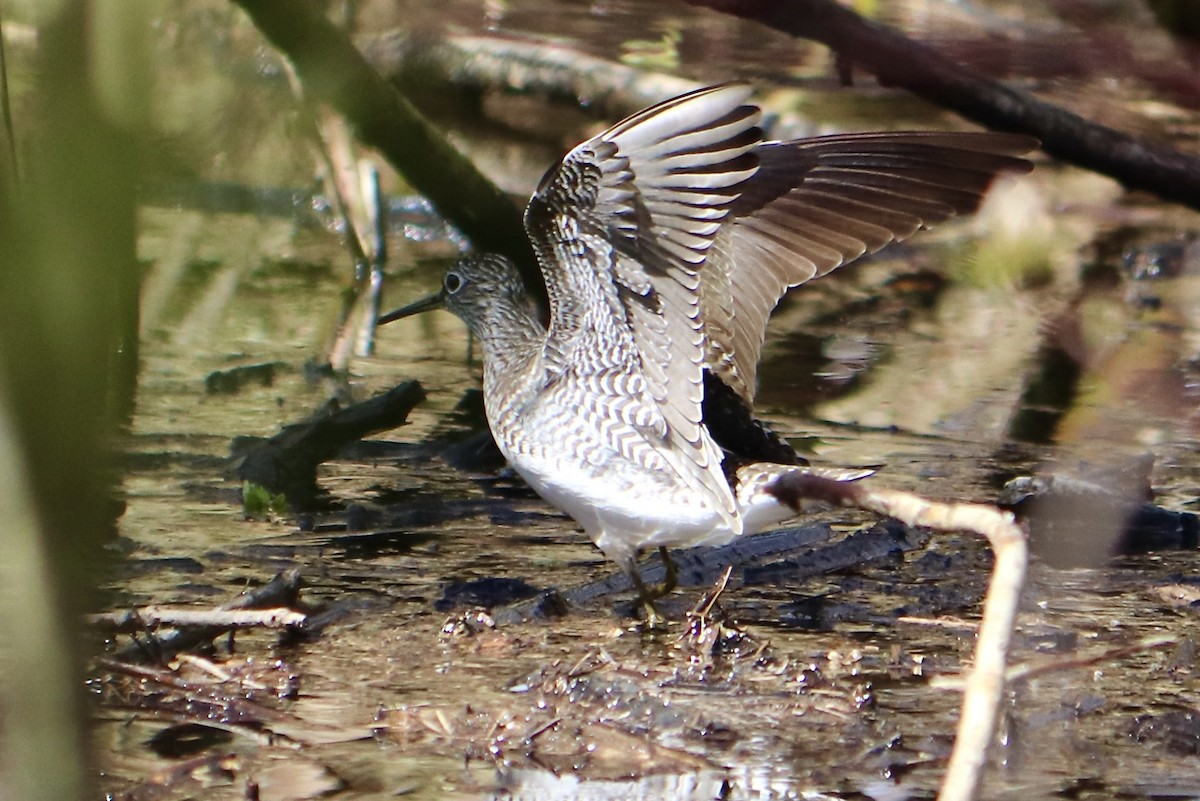
[[(1037, 141), (996, 132), (844, 133), (767, 141), (745, 83), (664, 101), (574, 147), (524, 212), (548, 299), (515, 264), (468, 254), (432, 308), (480, 343), (488, 427), (509, 465), (574, 518), (637, 589), (649, 620), (674, 584), (668, 547), (720, 546), (804, 510), (773, 494), (808, 465), (720, 441), (716, 399), (750, 418), (772, 309), (791, 288), (922, 227), (973, 211)], [(782, 446), (782, 447), (781, 447)], [(665, 586), (637, 558), (659, 548)]]

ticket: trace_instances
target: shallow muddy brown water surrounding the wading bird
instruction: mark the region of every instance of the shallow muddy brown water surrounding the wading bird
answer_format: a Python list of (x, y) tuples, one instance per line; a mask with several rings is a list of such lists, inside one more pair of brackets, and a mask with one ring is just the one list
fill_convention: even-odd
[[(395, 23), (390, 4), (361, 5), (365, 24)], [(678, 58), (703, 59), (697, 74), (712, 78), (734, 64), (774, 72), (793, 53), (686, 10), (440, 6), (437, 20), (414, 23), (416, 8), (400, 17), (574, 36), (607, 58), (647, 49), (629, 30), (662, 42), (679, 30)], [(967, 22), (1000, 24), (1001, 12)], [(656, 636), (635, 630), (628, 592), (499, 626), (443, 603), (473, 579), (568, 591), (613, 571), (511, 476), (437, 457), (430, 442), (469, 434), (455, 405), (479, 375), (450, 315), (390, 326), (347, 383), (306, 368), (323, 359), (350, 266), (305, 194), (302, 126), (245, 20), (216, 2), (170, 14), (158, 74), (172, 201), (142, 210), (144, 361), (107, 589), (114, 608), (215, 607), (299, 567), (304, 597), (330, 622), (307, 638), (220, 640), (211, 664), (182, 662), (170, 676), (97, 667), (104, 789), (127, 799), (254, 797), (251, 787), (262, 799), (931, 796), (956, 721), (958, 695), (942, 685), (970, 658), (990, 565), (970, 537), (834, 573), (734, 582), (703, 624)], [(751, 36), (761, 47), (748, 53)], [(824, 56), (799, 53), (793, 76), (818, 91), (775, 100), (822, 126), (954, 125), (869, 86), (835, 90)], [(1178, 114), (1174, 130), (1196, 130)], [(217, 183), (288, 192), (259, 194), (247, 213)], [(293, 188), (299, 204), (269, 201)], [(397, 212), (385, 302), (428, 291), (437, 278), (422, 260), (455, 252), (407, 237), (412, 225)], [(1198, 231), (1193, 212), (1039, 163), (977, 221), (793, 294), (773, 323), (762, 414), (816, 460), (882, 465), (882, 484), (941, 499), (992, 500), (1022, 471), (1151, 453), (1158, 502), (1195, 511), (1200, 259), (1134, 282), (1123, 257), (1174, 252)], [(1032, 249), (1022, 257), (1021, 246)], [(1082, 366), (1072, 401), (1057, 405), (1030, 390), (1046, 372), (1049, 330), (1066, 332), (1055, 343)], [(264, 363), (277, 363), (269, 383), (205, 390), (216, 371)], [(244, 519), (234, 438), (414, 378), (428, 399), (409, 424), (322, 466), (326, 510)], [(1018, 426), (1027, 420), (1052, 424)], [(836, 541), (875, 522), (818, 523)], [(1032, 567), (1013, 661), (1046, 669), (1009, 693), (988, 796), (1196, 795), (1195, 553), (1109, 560), (1102, 532), (1061, 536), (1078, 538), (1060, 550), (1093, 566)], [(678, 620), (706, 589), (677, 592)], [(197, 723), (206, 728), (178, 728)]]

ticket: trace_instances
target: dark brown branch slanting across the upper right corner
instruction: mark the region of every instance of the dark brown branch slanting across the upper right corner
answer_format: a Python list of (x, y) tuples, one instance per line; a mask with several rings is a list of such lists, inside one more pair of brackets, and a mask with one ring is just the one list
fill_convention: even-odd
[(1109, 175), (1127, 188), (1200, 209), (1200, 158), (1156, 147), (996, 80), (833, 0), (688, 0), (826, 44), (887, 86), (907, 89), (997, 131), (1030, 133), (1064, 162)]

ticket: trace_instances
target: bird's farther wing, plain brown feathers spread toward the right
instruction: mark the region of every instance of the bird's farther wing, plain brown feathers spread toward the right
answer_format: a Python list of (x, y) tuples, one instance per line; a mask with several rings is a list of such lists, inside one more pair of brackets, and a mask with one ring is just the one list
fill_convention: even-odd
[(706, 363), (746, 404), (767, 318), (790, 288), (973, 211), (1037, 146), (1004, 133), (851, 133), (764, 143), (702, 278)]

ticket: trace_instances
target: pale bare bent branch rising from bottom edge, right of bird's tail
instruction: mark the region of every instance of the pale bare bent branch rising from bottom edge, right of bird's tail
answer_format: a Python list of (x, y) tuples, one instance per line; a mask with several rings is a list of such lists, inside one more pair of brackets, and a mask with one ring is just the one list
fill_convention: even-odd
[(1013, 514), (984, 504), (941, 504), (912, 493), (871, 489), (863, 481), (834, 481), (812, 474), (785, 475), (768, 492), (796, 508), (803, 500), (820, 500), (884, 514), (911, 526), (974, 531), (991, 543), (995, 562), (983, 602), (974, 666), (966, 679), (954, 751), (937, 796), (941, 801), (974, 799), (1000, 717), (1008, 645), (1028, 560), (1025, 532)]

